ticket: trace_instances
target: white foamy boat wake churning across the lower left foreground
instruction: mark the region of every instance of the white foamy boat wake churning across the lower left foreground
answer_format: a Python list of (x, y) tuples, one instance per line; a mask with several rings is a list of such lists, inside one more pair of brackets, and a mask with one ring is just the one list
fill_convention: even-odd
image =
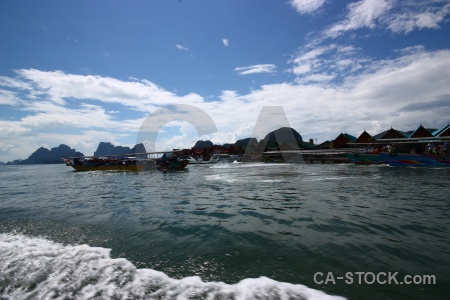
[(110, 249), (63, 245), (45, 238), (0, 234), (2, 299), (344, 299), (267, 277), (236, 284), (170, 278), (138, 269)]

